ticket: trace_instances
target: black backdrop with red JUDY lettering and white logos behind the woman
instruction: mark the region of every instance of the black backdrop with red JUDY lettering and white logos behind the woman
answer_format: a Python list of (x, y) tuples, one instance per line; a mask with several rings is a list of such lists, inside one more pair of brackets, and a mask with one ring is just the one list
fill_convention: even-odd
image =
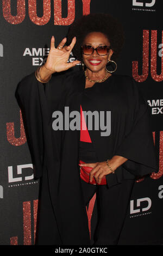
[[(17, 84), (46, 61), (52, 35), (57, 46), (71, 23), (89, 13), (109, 13), (124, 27), (126, 42), (116, 72), (132, 76), (149, 104), (159, 164), (157, 173), (135, 182), (120, 245), (162, 243), (162, 8), (161, 0), (1, 0), (0, 245), (34, 245), (35, 241), (39, 180), (33, 177), (21, 110), (15, 98)], [(69, 61), (73, 60), (71, 53)], [(97, 218), (95, 206), (96, 194), (87, 206), (91, 237)]]

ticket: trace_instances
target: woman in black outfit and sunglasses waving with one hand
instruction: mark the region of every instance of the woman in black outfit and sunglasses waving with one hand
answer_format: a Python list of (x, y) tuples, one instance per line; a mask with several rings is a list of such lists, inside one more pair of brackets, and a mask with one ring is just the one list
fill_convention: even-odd
[[(16, 94), (42, 181), (36, 245), (89, 245), (86, 205), (95, 192), (94, 245), (117, 245), (136, 176), (157, 168), (148, 105), (132, 78), (108, 70), (123, 45), (110, 15), (83, 16), (57, 48), (54, 41)], [(77, 60), (67, 63), (71, 51)], [(70, 71), (80, 62), (83, 70)], [(89, 115), (92, 129), (84, 111), (99, 118)]]

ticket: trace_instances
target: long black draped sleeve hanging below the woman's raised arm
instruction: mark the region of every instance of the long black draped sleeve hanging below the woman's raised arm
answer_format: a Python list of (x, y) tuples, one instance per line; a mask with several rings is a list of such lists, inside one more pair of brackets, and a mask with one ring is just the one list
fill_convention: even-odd
[(43, 168), (43, 129), (39, 88), (34, 74), (28, 75), (18, 84), (16, 99), (22, 111), (24, 129), (32, 157), (34, 178), (40, 178)]

